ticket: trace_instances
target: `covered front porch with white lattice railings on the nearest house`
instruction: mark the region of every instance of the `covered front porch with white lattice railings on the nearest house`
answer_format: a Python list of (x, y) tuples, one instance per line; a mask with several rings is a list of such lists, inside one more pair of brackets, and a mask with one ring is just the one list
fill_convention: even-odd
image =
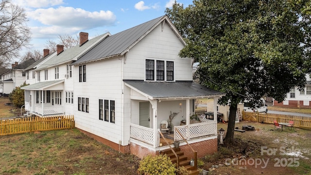
[(187, 144), (183, 138), (190, 144), (217, 139), (217, 106), (214, 119), (208, 120), (195, 115), (195, 101), (212, 98), (217, 103), (225, 93), (193, 82), (129, 81), (125, 85), (131, 88), (130, 142), (155, 151), (167, 149), (160, 146), (159, 132), (161, 121), (170, 123), (171, 113), (177, 113), (171, 121), (172, 140), (180, 141), (181, 146)]

